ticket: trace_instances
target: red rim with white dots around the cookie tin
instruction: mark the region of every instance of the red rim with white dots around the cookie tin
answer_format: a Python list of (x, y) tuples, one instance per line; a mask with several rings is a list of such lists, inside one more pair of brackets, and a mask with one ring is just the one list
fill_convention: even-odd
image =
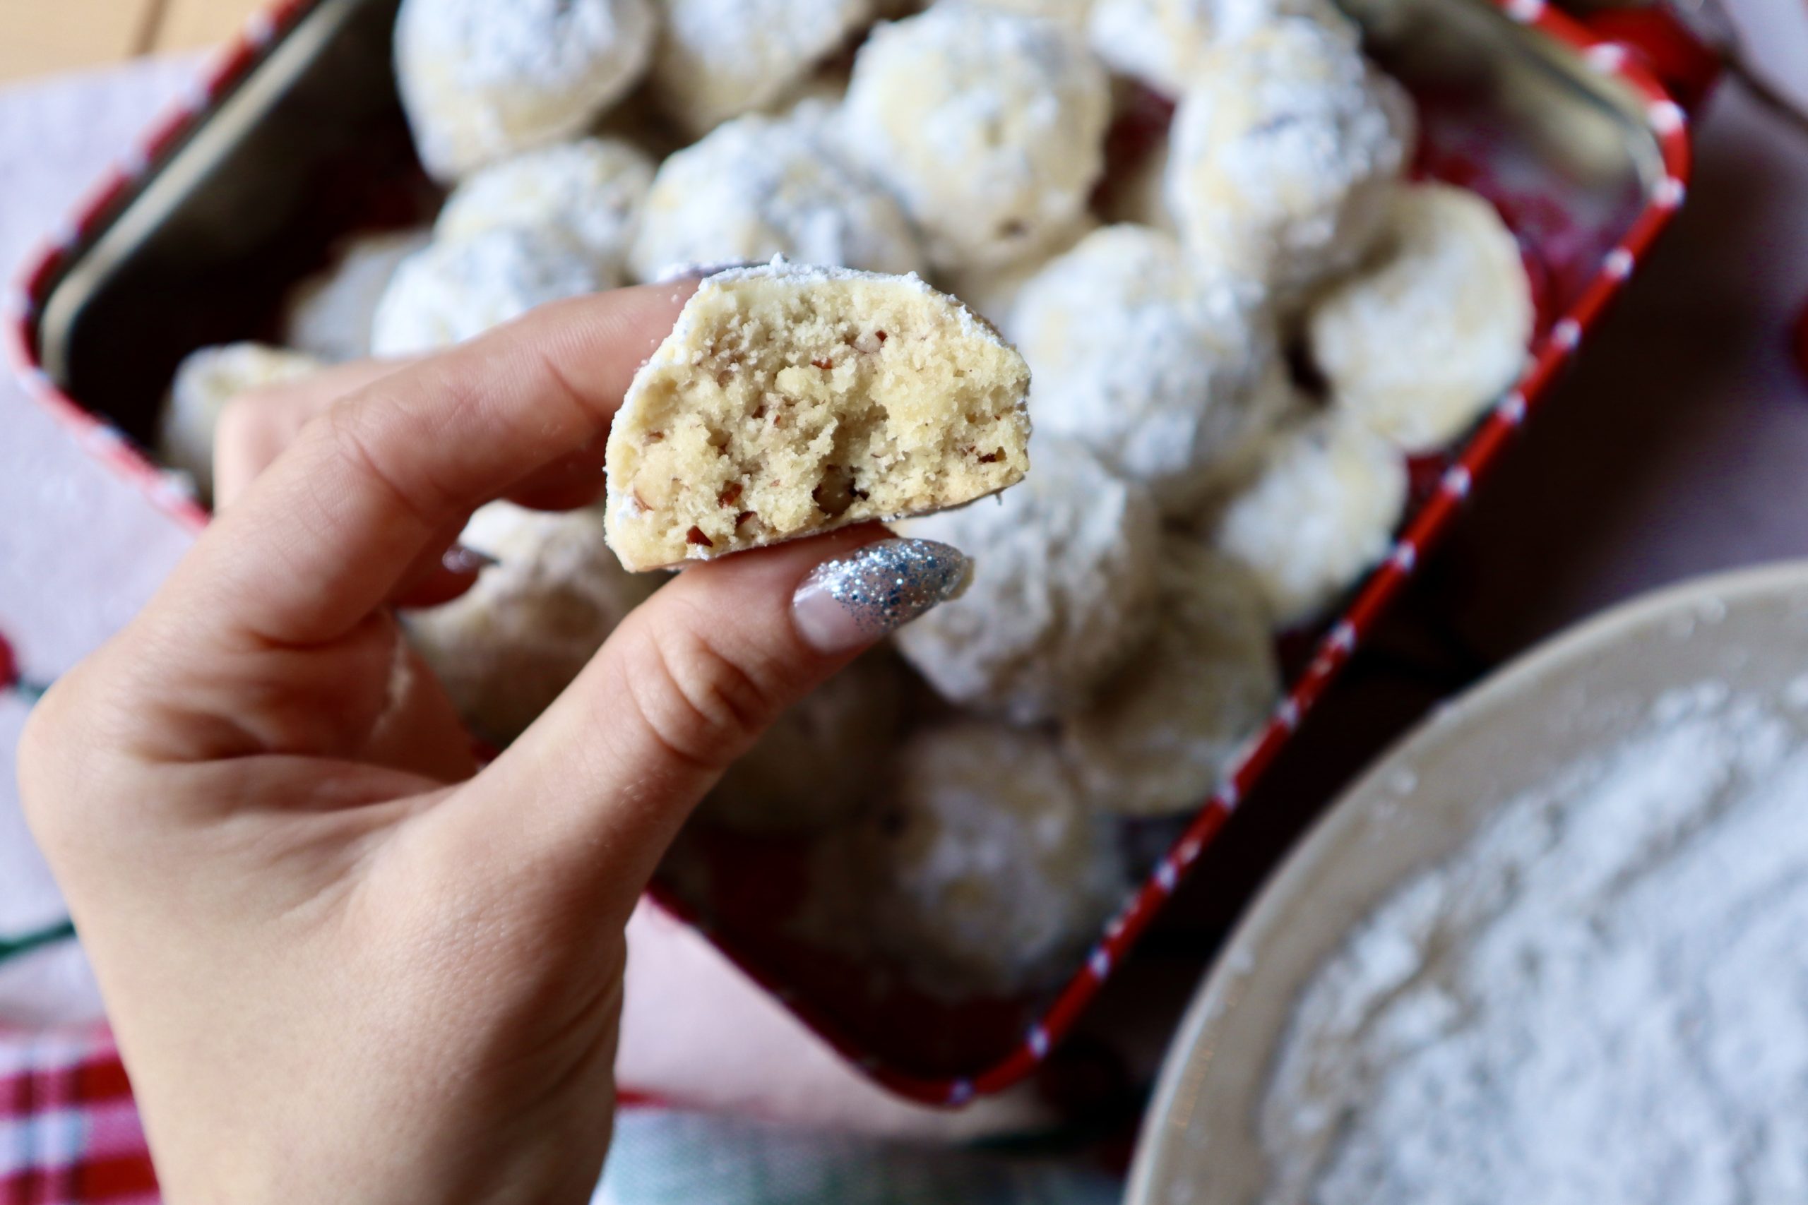
[[(136, 482), (152, 504), (175, 517), (177, 522), (197, 531), (208, 522), (206, 511), (168, 473), (152, 464), (127, 435), (56, 388), (43, 365), (38, 363), (33, 323), (45, 285), (56, 278), (87, 237), (101, 226), (112, 206), (152, 170), (163, 150), (206, 117), (212, 105), (259, 61), (313, 2), (277, 0), (246, 23), (239, 40), (202, 70), (197, 87), (190, 89), (170, 112), (152, 125), (137, 146), (101, 177), (78, 204), (72, 220), (52, 237), (49, 246), (27, 258), (13, 296), (13, 313), (4, 323), (9, 354), (27, 392), (61, 421), (90, 455)], [(1690, 161), (1687, 114), (1651, 74), (1643, 56), (1629, 52), (1618, 42), (1589, 33), (1580, 22), (1551, 7), (1548, 0), (1490, 2), (1513, 22), (1539, 29), (1582, 51), (1591, 67), (1631, 85), (1645, 101), (1645, 117), (1656, 135), (1665, 175), (1653, 186), (1645, 206), (1620, 244), (1602, 258), (1595, 278), (1575, 305), (1533, 343), (1519, 383), (1481, 421), (1461, 453), (1445, 470), (1432, 497), (1407, 518), (1392, 553), (1369, 574), (1342, 618), (1318, 641), (1311, 663), (1275, 708), (1267, 726), (1251, 743), (1242, 762), (1163, 855), (1141, 889), (1105, 927), (1105, 936), (1092, 947), (1085, 965), (1069, 979), (1038, 1021), (1025, 1030), (1022, 1041), (1003, 1059), (971, 1077), (926, 1079), (886, 1066), (848, 1039), (833, 1019), (812, 1006), (810, 1001), (774, 981), (756, 959), (712, 934), (689, 909), (656, 887), (651, 892), (669, 912), (702, 929), (729, 961), (783, 1001), (835, 1051), (900, 1097), (926, 1104), (960, 1106), (978, 1095), (1002, 1091), (1036, 1070), (1049, 1050), (1072, 1028), (1087, 1003), (1110, 976), (1112, 967), (1125, 957), (1163, 901), (1173, 894), (1181, 876), (1211, 844), (1237, 802), (1249, 793), (1293, 730), (1313, 710), (1313, 705), (1351, 659), (1356, 645), (1412, 578), (1425, 553), (1445, 537), (1470, 490), (1483, 481), (1501, 450), (1539, 406), (1551, 379), (1569, 361), (1582, 338), (1600, 320), (1602, 311), (1651, 249), (1653, 240), (1669, 224), (1671, 215), (1681, 206), (1689, 186)]]

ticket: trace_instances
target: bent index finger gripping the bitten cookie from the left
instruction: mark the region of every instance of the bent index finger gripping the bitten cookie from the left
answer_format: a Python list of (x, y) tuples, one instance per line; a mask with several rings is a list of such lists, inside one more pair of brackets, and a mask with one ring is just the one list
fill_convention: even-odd
[(334, 403), (177, 567), (177, 614), (282, 645), (344, 636), (448, 526), (604, 439), (692, 287), (555, 302)]

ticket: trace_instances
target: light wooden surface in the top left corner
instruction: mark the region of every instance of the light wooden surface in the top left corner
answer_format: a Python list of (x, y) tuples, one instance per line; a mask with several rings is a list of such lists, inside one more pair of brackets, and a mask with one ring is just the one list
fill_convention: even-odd
[(0, 83), (224, 42), (259, 0), (0, 0)]

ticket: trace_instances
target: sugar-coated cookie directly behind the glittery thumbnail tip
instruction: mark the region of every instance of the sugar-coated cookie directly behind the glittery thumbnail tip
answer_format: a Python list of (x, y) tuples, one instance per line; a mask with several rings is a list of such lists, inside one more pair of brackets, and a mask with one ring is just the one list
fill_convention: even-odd
[(897, 634), (942, 697), (1016, 723), (1083, 708), (1155, 620), (1161, 520), (1087, 448), (1036, 441), (1036, 472), (998, 504), (900, 524), (973, 558), (967, 593)]

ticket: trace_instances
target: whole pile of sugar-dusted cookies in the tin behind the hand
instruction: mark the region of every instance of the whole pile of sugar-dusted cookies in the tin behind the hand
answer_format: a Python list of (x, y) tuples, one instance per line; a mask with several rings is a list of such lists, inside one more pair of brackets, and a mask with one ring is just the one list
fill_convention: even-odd
[[(1385, 556), (1407, 459), (1533, 325), (1513, 235), (1408, 182), (1414, 112), (1329, 0), (403, 0), (396, 74), (448, 197), (298, 285), (286, 349), (192, 356), (165, 453), (226, 397), (461, 341), (542, 302), (783, 255), (917, 273), (1032, 370), (1027, 481), (913, 518), (969, 593), (786, 715), (698, 826), (814, 849), (808, 939), (938, 995), (1070, 968), (1126, 820), (1197, 808), (1280, 697), (1275, 634)], [(1172, 125), (1106, 177), (1126, 112)], [(660, 574), (602, 509), (483, 508), (497, 558), (409, 620), (506, 743)], [(707, 894), (707, 892), (705, 892)]]

